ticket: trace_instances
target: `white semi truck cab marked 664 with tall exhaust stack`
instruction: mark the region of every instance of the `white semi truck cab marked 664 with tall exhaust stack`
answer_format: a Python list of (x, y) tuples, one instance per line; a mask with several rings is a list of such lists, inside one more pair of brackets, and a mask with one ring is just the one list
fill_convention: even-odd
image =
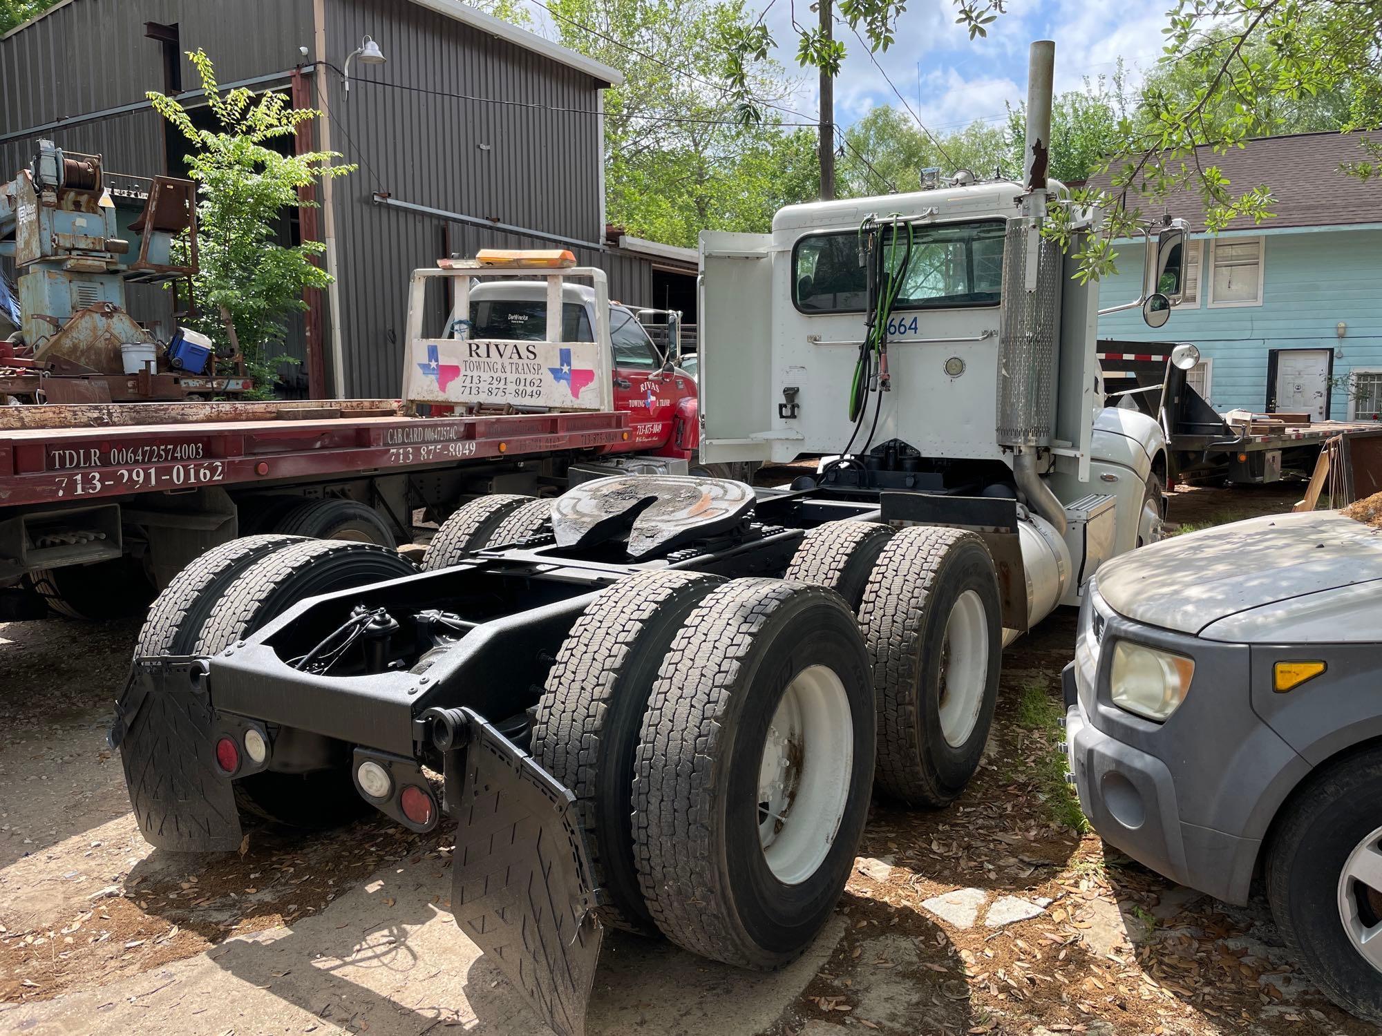
[[(978, 532), (1005, 644), (1078, 605), (1095, 569), (1157, 540), (1164, 517), (1165, 434), (1104, 406), (1096, 338), (1101, 312), (1166, 322), (1186, 225), (1147, 227), (1124, 249), (1144, 264), (1142, 297), (1100, 311), (1099, 283), (1075, 278), (1078, 249), (1042, 236), (1052, 209), (1072, 209), (1046, 177), (1053, 58), (1053, 43), (1031, 46), (1024, 182), (960, 171), (948, 186), (789, 206), (771, 233), (701, 235), (702, 457), (824, 456), (796, 488), (878, 495), (893, 525)], [(1070, 215), (1099, 232), (1100, 211)], [(951, 651), (972, 608), (955, 598)]]

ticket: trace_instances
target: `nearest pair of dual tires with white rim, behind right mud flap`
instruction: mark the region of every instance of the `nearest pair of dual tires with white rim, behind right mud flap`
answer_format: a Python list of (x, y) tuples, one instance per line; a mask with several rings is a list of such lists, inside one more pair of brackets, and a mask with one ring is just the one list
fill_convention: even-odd
[(634, 575), (572, 629), (532, 745), (576, 796), (603, 921), (778, 967), (829, 919), (864, 829), (867, 651), (829, 590)]

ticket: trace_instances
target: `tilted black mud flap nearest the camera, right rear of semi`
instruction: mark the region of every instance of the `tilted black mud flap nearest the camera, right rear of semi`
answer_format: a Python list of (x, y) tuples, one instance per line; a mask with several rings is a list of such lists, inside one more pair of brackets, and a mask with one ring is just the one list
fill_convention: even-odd
[(580, 1036), (604, 930), (575, 797), (468, 709), (446, 753), (456, 818), (451, 909), (538, 1017)]

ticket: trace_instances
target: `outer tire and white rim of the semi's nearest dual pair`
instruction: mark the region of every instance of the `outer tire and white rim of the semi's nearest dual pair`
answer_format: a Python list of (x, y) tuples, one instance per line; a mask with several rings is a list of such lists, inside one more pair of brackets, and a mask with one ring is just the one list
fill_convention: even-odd
[[(774, 760), (792, 787), (764, 786)], [(844, 601), (760, 579), (710, 593), (661, 666), (634, 761), (634, 862), (658, 928), (727, 964), (797, 957), (844, 888), (872, 769), (868, 658)]]

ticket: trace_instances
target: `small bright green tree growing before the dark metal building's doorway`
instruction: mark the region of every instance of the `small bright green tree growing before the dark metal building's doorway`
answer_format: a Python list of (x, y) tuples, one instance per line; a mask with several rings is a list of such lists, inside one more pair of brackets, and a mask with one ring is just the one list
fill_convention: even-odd
[(355, 166), (333, 166), (340, 157), (336, 152), (290, 153), (297, 124), (318, 112), (292, 108), (274, 91), (256, 97), (238, 87), (223, 95), (211, 59), (200, 50), (188, 59), (202, 79), (218, 128), (195, 126), (171, 97), (146, 97), (192, 145), (188, 175), (198, 182), (200, 272), (192, 279), (196, 316), (189, 323), (220, 347), (232, 345), (234, 333), (250, 374), (267, 391), (285, 359), (278, 354), (287, 318), (307, 308), (303, 289), (323, 289), (332, 282), (312, 264), (326, 246), (312, 240), (279, 244), (279, 220), (290, 206), (304, 204), (299, 188), (321, 177), (346, 175)]

